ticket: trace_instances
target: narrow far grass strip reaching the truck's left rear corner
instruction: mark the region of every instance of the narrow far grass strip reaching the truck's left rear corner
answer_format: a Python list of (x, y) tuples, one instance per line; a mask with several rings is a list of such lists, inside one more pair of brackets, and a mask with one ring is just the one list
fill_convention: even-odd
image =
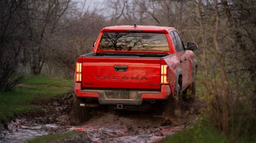
[(30, 85), (46, 85), (48, 87), (72, 87), (72, 80), (64, 80), (61, 78), (48, 78), (45, 76), (26, 76), (23, 80), (24, 84)]

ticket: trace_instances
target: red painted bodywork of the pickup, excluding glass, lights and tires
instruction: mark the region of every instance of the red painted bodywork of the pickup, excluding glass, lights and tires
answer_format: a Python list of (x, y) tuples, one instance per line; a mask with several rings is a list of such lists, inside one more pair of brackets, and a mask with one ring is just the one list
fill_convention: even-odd
[[(170, 52), (137, 52), (137, 51), (98, 51), (98, 45), (104, 32), (125, 32), (126, 30), (139, 30), (148, 33), (164, 33), (169, 44)], [(194, 53), (192, 51), (176, 52), (170, 32), (176, 31), (173, 27), (160, 26), (110, 26), (103, 28), (97, 38), (93, 52), (96, 53), (163, 53), (169, 54), (163, 58), (102, 58), (97, 56), (80, 56), (82, 62), (82, 83), (75, 83), (75, 92), (78, 97), (98, 98), (97, 92), (83, 92), (81, 88), (114, 88), (114, 89), (155, 89), (160, 94), (143, 94), (142, 99), (166, 99), (174, 96), (176, 73), (181, 69), (183, 76), (182, 90), (191, 85), (192, 64)], [(180, 63), (180, 60), (187, 59)], [(161, 65), (167, 65), (168, 85), (160, 84)], [(114, 66), (127, 66), (127, 71), (116, 71)], [(137, 80), (138, 78), (138, 80)], [(145, 80), (146, 78), (146, 80)], [(134, 80), (135, 79), (135, 80)], [(143, 80), (144, 79), (144, 80)]]

